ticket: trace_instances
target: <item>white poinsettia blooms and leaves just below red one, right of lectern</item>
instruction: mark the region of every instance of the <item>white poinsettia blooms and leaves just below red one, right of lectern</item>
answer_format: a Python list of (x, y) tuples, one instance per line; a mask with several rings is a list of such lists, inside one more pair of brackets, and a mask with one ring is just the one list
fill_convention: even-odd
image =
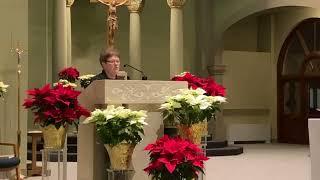
[(168, 96), (160, 109), (164, 121), (191, 126), (215, 118), (220, 105), (225, 102), (225, 97), (208, 96), (201, 88), (180, 89), (177, 95)]

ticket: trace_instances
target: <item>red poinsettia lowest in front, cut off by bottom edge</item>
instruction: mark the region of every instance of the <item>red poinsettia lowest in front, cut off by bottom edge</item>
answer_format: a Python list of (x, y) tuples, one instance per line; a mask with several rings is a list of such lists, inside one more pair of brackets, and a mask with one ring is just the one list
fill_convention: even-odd
[(150, 163), (144, 169), (155, 180), (191, 180), (198, 177), (208, 160), (202, 150), (192, 142), (180, 137), (165, 135), (154, 144), (145, 147)]

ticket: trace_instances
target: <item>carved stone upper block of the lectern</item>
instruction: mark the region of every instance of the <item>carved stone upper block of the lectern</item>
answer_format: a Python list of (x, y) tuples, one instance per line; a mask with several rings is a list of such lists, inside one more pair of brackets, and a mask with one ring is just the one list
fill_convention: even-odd
[(161, 104), (184, 88), (186, 81), (107, 80), (94, 81), (86, 90), (96, 104)]

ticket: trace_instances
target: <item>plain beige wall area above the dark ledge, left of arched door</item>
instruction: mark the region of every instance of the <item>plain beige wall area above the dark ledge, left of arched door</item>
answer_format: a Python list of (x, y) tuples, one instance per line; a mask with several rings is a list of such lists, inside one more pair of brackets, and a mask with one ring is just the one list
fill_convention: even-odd
[(270, 53), (224, 51), (223, 63), (228, 68), (223, 77), (228, 98), (225, 109), (270, 107), (270, 61)]

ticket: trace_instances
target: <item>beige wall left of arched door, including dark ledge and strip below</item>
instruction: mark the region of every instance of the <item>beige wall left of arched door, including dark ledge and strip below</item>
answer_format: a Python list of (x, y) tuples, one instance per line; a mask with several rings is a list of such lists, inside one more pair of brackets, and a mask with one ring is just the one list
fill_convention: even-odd
[[(227, 72), (223, 84), (228, 103), (224, 105), (223, 126), (229, 123), (270, 123), (270, 53), (224, 51)], [(263, 68), (260, 68), (263, 67)], [(216, 128), (217, 137), (225, 138), (225, 128)]]

